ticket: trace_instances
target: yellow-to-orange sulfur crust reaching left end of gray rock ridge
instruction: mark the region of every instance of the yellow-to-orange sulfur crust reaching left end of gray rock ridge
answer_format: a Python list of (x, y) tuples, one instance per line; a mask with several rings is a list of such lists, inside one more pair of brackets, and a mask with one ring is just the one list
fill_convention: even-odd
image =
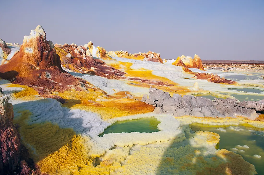
[(108, 97), (101, 91), (64, 91), (64, 93), (58, 93), (56, 95), (67, 99), (67, 103), (64, 106), (98, 113), (104, 120), (153, 112), (154, 110), (152, 105), (145, 104), (139, 100), (115, 96)]

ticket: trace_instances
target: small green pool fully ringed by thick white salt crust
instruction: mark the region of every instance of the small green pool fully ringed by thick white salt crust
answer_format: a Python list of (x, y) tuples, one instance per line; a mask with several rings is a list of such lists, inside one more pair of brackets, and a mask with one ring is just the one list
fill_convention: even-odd
[(109, 133), (130, 133), (130, 132), (139, 132), (139, 133), (152, 133), (158, 132), (157, 125), (161, 123), (154, 117), (151, 118), (141, 118), (136, 120), (125, 120), (117, 121), (112, 124), (99, 136)]

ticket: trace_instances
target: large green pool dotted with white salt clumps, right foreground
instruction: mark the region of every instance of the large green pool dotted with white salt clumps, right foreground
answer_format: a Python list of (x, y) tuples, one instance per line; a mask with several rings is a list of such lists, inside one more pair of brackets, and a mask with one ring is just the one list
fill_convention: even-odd
[[(218, 149), (227, 149), (232, 151), (237, 148), (238, 154), (242, 155), (243, 159), (256, 168), (258, 174), (264, 174), (264, 132), (263, 131), (253, 131), (250, 128), (245, 128), (239, 126), (241, 131), (234, 131), (230, 127), (224, 128), (226, 132), (220, 131), (217, 127), (208, 125), (191, 125), (194, 131), (210, 131), (218, 133), (220, 135), (220, 142)], [(247, 145), (249, 148), (239, 148), (237, 145)], [(242, 152), (240, 150), (244, 150)], [(253, 155), (260, 155), (261, 158), (254, 158)]]

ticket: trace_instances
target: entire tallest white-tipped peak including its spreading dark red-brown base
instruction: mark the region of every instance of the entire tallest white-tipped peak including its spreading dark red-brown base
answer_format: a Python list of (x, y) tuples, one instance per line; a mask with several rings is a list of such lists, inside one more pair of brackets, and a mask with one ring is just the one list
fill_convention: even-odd
[(53, 43), (46, 40), (42, 26), (24, 37), (20, 51), (0, 66), (0, 76), (15, 84), (31, 86), (40, 95), (72, 88), (78, 90), (86, 84), (62, 70), (60, 57)]

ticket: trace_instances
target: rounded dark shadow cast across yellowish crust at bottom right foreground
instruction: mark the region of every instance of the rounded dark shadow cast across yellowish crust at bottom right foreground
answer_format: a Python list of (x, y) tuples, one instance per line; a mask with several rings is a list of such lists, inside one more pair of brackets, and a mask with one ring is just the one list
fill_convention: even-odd
[[(205, 140), (202, 143), (197, 134), (185, 133), (185, 136), (187, 139), (183, 142), (173, 142), (166, 148), (156, 174), (248, 175), (254, 172), (254, 167), (240, 155), (225, 149), (216, 152), (213, 145)], [(201, 143), (196, 145), (194, 140)]]

